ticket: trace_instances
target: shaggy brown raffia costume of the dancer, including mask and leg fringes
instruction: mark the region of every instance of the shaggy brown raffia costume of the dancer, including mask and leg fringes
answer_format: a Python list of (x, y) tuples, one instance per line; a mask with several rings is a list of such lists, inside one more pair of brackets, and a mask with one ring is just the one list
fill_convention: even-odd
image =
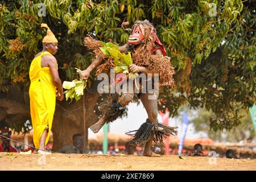
[[(165, 56), (166, 49), (158, 39), (154, 26), (152, 26), (148, 20), (137, 20), (131, 30), (131, 35), (125, 45), (125, 51), (123, 52), (131, 52), (133, 64), (138, 67), (144, 67), (154, 73), (159, 73), (160, 86), (173, 88), (175, 86), (174, 79), (172, 78), (175, 72), (174, 67), (171, 65), (170, 58)], [(94, 40), (91, 36), (86, 36), (84, 44), (96, 55), (94, 60), (98, 59), (98, 57), (102, 58), (101, 64), (96, 68), (96, 76), (100, 73), (109, 73), (110, 69), (115, 67), (113, 58), (106, 57), (104, 53), (101, 52), (100, 47), (102, 44), (100, 41)], [(120, 48), (119, 50), (121, 51)], [(161, 54), (156, 53), (159, 52), (159, 50)], [(155, 100), (150, 101), (147, 100), (147, 97), (145, 96), (146, 94), (144, 94), (144, 96), (143, 94), (139, 94), (148, 113), (148, 118), (138, 130), (132, 131), (135, 132), (135, 134), (132, 134), (133, 138), (131, 141), (136, 145), (145, 144), (143, 155), (152, 156), (152, 152), (150, 152), (152, 141), (154, 140), (154, 142), (162, 143), (164, 138), (176, 134), (176, 128), (158, 123), (156, 98)], [(100, 123), (104, 124), (105, 122), (112, 122), (118, 117), (121, 117), (126, 108), (125, 105), (121, 104), (125, 97), (128, 98), (126, 103), (133, 100), (132, 94), (129, 95), (123, 93), (120, 97), (117, 94), (111, 94), (104, 102), (102, 102), (99, 106), (99, 110), (101, 111), (101, 115), (103, 115), (103, 119), (101, 118), (95, 125), (99, 126)], [(94, 126), (92, 126), (91, 129), (93, 130)], [(95, 131), (98, 131), (98, 129)]]

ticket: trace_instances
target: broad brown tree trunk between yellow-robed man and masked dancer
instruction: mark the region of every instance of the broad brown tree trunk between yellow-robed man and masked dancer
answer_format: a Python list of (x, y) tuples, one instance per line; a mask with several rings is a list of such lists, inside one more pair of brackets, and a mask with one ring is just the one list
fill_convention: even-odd
[[(97, 122), (98, 116), (94, 113), (94, 105), (99, 94), (85, 93), (85, 123), (88, 127)], [(53, 118), (53, 151), (59, 150), (67, 144), (73, 144), (72, 137), (75, 134), (82, 134), (86, 137), (84, 146), (88, 146), (88, 133), (84, 133), (84, 110), (83, 99), (72, 101), (56, 102), (56, 110)]]

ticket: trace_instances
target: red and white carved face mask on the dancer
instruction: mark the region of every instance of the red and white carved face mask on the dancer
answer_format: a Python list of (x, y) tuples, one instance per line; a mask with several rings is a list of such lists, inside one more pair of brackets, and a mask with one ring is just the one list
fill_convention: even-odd
[(129, 36), (128, 44), (138, 45), (144, 39), (145, 30), (142, 24), (137, 24), (133, 28), (133, 32)]

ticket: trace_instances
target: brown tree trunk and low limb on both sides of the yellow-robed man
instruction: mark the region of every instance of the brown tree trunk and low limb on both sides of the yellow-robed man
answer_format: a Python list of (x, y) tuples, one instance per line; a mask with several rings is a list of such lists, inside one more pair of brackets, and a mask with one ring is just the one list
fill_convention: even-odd
[[(13, 116), (13, 121), (16, 124), (16, 117), (25, 116), (30, 118), (30, 106), (28, 89), (24, 92), (15, 88), (10, 89), (9, 93), (0, 94), (0, 122), (5, 121), (10, 115)], [(97, 102), (100, 94), (85, 92), (85, 123), (86, 128), (98, 121), (98, 116), (94, 113), (94, 105)], [(82, 105), (83, 99), (79, 101), (73, 100), (69, 102), (56, 101), (55, 115), (52, 123), (53, 133), (53, 151), (59, 150), (66, 144), (72, 144), (74, 134), (82, 134), (85, 136), (84, 146), (88, 146), (88, 133), (84, 134), (84, 109)], [(26, 122), (27, 119), (23, 119)], [(23, 122), (19, 122), (19, 124)], [(22, 126), (20, 126), (22, 127)]]

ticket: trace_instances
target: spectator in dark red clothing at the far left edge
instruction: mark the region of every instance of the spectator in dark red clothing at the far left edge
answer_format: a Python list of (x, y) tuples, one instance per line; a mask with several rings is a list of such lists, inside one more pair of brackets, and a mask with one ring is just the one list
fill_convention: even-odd
[[(3, 129), (0, 131), (0, 134), (7, 138), (11, 137), (11, 131), (9, 131), (8, 127), (3, 127)], [(0, 137), (2, 140), (2, 144), (0, 144), (0, 152), (18, 152), (16, 148), (10, 145), (9, 139), (5, 137)]]

